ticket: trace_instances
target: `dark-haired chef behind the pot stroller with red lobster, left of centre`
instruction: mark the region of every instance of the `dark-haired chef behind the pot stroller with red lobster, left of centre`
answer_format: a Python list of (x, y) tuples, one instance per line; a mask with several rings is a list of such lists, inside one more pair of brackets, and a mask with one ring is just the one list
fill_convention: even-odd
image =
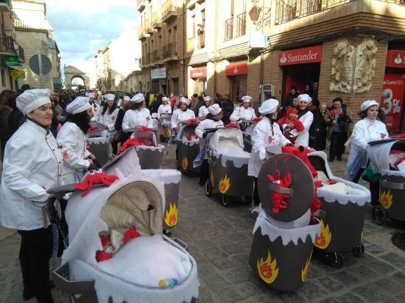
[(125, 113), (123, 119), (124, 131), (138, 126), (153, 127), (152, 117), (146, 108), (145, 98), (141, 93), (132, 97), (130, 109)]

